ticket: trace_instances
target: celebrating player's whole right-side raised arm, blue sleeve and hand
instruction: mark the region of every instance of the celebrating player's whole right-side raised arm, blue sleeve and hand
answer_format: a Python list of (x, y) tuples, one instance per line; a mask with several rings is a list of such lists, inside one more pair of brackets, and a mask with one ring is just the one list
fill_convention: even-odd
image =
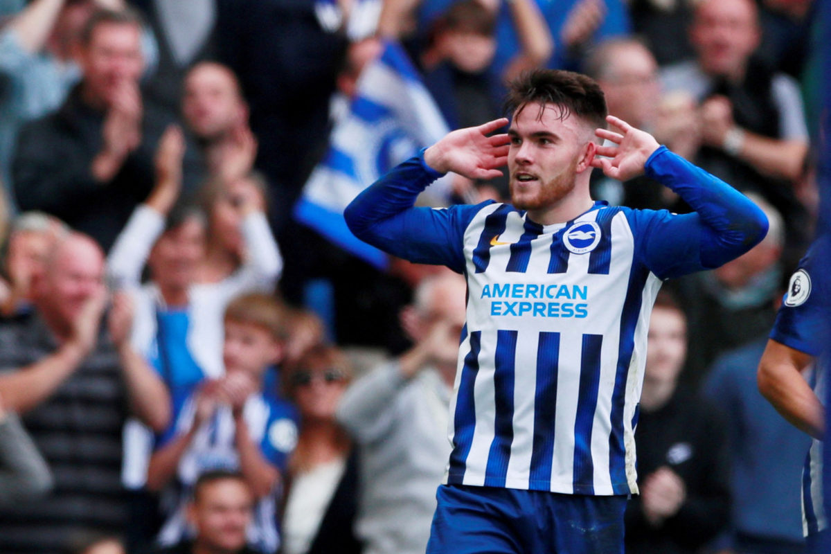
[[(653, 213), (645, 220), (641, 253), (658, 277), (720, 267), (760, 243), (768, 230), (765, 213), (744, 194), (703, 169), (659, 147), (652, 135), (610, 115), (622, 130), (597, 130), (615, 145), (601, 146), (593, 165), (612, 179), (627, 181), (646, 173), (681, 196), (694, 213)], [(609, 159), (611, 158), (611, 159)]]

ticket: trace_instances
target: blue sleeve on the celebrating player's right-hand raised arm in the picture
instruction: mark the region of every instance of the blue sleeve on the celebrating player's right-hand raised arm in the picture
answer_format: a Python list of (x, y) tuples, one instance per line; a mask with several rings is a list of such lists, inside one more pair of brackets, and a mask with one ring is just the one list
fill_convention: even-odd
[(720, 267), (765, 238), (768, 219), (755, 203), (666, 147), (652, 153), (646, 173), (694, 210), (683, 215), (627, 212), (638, 255), (661, 279)]

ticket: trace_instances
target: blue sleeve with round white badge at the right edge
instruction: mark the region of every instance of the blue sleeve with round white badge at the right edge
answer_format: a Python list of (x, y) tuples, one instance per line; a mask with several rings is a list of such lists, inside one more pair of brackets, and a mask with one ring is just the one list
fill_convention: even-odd
[(823, 338), (827, 336), (828, 287), (821, 260), (829, 253), (826, 239), (811, 246), (790, 277), (788, 292), (776, 314), (773, 331), (770, 331), (774, 341), (813, 356), (823, 353)]

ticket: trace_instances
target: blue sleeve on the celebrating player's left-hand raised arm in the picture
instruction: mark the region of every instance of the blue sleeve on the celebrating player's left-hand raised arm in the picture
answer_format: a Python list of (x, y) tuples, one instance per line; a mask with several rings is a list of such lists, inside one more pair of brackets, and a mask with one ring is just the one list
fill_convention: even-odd
[(344, 211), (352, 233), (365, 243), (416, 263), (465, 271), (465, 229), (487, 203), (451, 208), (414, 208), (416, 198), (441, 176), (424, 162), (424, 151), (358, 194)]

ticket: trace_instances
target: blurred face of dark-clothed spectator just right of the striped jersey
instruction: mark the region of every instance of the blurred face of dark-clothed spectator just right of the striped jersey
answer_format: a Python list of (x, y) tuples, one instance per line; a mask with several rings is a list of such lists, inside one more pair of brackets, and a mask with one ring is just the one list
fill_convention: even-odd
[(647, 370), (653, 383), (674, 382), (686, 360), (686, 320), (681, 311), (656, 307), (649, 320)]

